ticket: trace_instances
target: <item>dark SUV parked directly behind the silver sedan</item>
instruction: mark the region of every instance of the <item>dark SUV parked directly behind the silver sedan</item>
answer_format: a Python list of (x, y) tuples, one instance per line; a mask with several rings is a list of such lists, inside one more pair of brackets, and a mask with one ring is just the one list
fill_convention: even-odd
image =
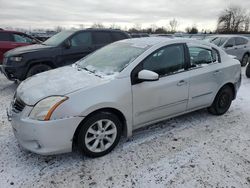
[(41, 44), (8, 51), (4, 54), (2, 71), (9, 80), (24, 80), (72, 64), (104, 45), (126, 38), (130, 36), (121, 30), (62, 31)]

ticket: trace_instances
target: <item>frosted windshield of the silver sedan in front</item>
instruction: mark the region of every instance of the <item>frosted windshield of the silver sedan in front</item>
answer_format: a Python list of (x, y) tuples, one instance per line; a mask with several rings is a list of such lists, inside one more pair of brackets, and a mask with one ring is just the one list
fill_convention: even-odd
[(116, 42), (79, 60), (78, 67), (97, 74), (112, 75), (121, 72), (134, 59), (146, 51), (149, 45)]

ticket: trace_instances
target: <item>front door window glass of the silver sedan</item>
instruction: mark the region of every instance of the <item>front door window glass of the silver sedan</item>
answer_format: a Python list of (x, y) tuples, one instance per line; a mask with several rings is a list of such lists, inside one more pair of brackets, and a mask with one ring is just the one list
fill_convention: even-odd
[(148, 56), (143, 61), (143, 69), (164, 76), (184, 69), (184, 62), (184, 46), (170, 45)]

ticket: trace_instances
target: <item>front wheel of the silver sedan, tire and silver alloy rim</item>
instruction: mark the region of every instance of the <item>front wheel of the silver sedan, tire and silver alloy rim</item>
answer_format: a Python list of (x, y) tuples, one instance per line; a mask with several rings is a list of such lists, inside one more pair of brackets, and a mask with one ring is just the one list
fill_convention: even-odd
[(101, 157), (111, 152), (118, 144), (122, 133), (119, 118), (107, 112), (89, 117), (78, 134), (78, 148), (88, 157)]

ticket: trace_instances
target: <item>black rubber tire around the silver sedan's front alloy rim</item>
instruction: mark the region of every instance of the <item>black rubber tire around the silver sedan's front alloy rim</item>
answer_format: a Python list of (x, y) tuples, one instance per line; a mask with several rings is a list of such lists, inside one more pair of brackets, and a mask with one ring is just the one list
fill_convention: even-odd
[[(117, 135), (116, 135), (116, 139), (111, 147), (109, 147), (107, 150), (105, 150), (103, 152), (95, 153), (95, 152), (90, 151), (87, 148), (87, 146), (85, 144), (85, 135), (86, 135), (89, 127), (91, 125), (93, 125), (93, 123), (95, 123), (96, 121), (101, 120), (101, 119), (111, 120), (116, 126)], [(91, 117), (89, 117), (81, 125), (81, 129), (80, 129), (80, 132), (79, 132), (78, 138), (77, 138), (78, 139), (78, 141), (77, 141), (78, 148), (79, 148), (80, 152), (82, 152), (84, 155), (86, 155), (88, 157), (92, 157), (92, 158), (101, 157), (101, 156), (106, 155), (107, 153), (111, 152), (114, 149), (114, 147), (119, 143), (119, 140), (121, 138), (121, 134), (122, 134), (122, 123), (116, 115), (114, 115), (112, 113), (105, 113), (105, 112), (96, 113), (96, 114), (92, 115)]]

